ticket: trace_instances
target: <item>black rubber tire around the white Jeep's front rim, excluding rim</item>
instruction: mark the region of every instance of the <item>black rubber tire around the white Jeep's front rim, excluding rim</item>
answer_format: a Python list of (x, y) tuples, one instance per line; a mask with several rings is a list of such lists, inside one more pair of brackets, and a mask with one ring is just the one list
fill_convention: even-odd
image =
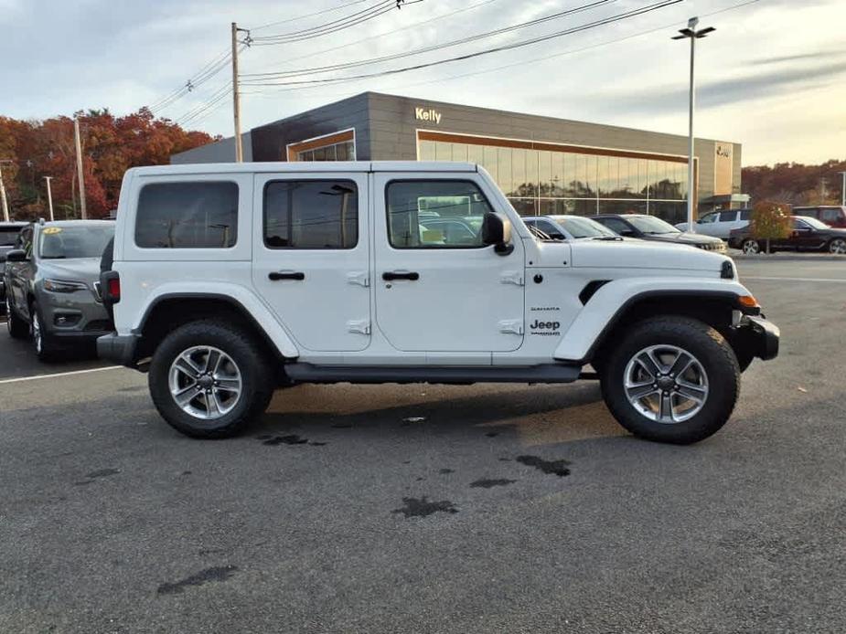
[[(662, 423), (637, 410), (626, 396), (626, 366), (652, 345), (677, 346), (692, 354), (707, 375), (708, 393), (701, 410), (682, 422)], [(706, 439), (726, 423), (740, 394), (740, 367), (722, 334), (688, 317), (667, 316), (638, 322), (608, 355), (601, 376), (605, 404), (624, 428), (635, 436), (687, 445)]]

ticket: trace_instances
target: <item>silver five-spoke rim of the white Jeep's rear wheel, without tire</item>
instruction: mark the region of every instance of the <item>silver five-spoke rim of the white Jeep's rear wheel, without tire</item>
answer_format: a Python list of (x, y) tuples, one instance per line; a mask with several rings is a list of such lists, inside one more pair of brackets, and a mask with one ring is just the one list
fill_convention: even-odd
[(196, 345), (177, 356), (167, 376), (170, 395), (188, 415), (215, 420), (241, 399), (241, 370), (229, 354)]

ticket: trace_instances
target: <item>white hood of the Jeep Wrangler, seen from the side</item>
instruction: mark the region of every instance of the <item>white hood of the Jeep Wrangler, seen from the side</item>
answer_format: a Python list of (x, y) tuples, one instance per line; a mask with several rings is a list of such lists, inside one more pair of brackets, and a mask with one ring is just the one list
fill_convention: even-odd
[(571, 248), (571, 261), (576, 268), (695, 270), (719, 275), (723, 262), (730, 260), (719, 253), (682, 243), (633, 238), (574, 240)]

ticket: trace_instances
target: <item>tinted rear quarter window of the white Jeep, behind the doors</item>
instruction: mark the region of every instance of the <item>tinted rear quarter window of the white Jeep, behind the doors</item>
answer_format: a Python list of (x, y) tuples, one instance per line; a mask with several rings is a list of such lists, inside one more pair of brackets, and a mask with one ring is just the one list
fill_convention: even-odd
[(225, 181), (151, 183), (138, 195), (141, 248), (231, 248), (238, 240), (238, 185)]

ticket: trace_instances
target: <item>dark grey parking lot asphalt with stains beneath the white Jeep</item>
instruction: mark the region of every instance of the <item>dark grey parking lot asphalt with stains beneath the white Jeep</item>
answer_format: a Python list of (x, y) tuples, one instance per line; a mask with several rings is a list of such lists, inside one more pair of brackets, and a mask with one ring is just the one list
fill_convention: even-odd
[(190, 440), (130, 370), (8, 382), (69, 366), (0, 333), (0, 632), (844, 631), (846, 262), (739, 268), (781, 355), (691, 447), (590, 382), (298, 386)]

